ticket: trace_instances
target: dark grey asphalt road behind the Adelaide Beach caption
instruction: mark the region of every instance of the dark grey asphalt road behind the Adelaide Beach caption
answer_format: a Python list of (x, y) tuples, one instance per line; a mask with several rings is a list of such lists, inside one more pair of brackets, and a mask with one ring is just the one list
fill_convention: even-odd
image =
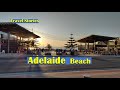
[(0, 74), (120, 69), (120, 56), (93, 56), (92, 59), (91, 65), (29, 65), (23, 56), (0, 58)]

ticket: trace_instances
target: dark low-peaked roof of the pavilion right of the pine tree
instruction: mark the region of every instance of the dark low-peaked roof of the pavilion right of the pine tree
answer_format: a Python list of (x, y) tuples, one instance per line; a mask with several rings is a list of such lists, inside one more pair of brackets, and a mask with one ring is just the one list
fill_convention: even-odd
[(87, 42), (87, 43), (93, 43), (96, 41), (108, 41), (116, 39), (117, 37), (108, 37), (108, 36), (101, 36), (101, 35), (90, 35), (88, 37), (82, 38), (78, 40), (78, 42)]

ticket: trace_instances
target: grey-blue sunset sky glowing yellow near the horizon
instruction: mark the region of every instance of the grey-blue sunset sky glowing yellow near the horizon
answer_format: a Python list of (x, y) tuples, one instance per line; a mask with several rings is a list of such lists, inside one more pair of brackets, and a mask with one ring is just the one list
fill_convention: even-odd
[(73, 33), (75, 40), (91, 34), (120, 37), (120, 12), (0, 12), (0, 22), (38, 19), (18, 23), (41, 37), (41, 47), (63, 47)]

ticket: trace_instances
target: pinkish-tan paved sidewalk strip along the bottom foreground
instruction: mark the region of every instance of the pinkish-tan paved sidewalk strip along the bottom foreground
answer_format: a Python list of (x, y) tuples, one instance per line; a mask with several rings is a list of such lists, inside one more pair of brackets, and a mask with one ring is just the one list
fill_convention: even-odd
[(111, 70), (86, 70), (69, 72), (21, 72), (4, 73), (0, 78), (120, 78), (120, 69)]

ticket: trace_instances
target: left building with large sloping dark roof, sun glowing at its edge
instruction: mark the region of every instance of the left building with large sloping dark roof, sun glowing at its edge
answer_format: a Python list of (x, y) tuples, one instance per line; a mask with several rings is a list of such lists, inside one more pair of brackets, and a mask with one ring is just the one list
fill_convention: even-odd
[(30, 43), (34, 44), (35, 38), (40, 36), (16, 23), (0, 23), (0, 52), (16, 53), (21, 49), (29, 48)]

